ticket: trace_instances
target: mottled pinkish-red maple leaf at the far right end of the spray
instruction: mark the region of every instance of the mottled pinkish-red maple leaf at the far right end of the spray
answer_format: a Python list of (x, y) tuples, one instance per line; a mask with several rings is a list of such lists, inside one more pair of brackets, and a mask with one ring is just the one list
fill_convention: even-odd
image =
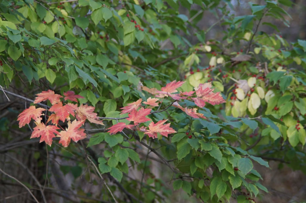
[(203, 108), (205, 102), (210, 103), (211, 105), (221, 104), (226, 102), (221, 96), (220, 92), (212, 92), (214, 89), (211, 89), (211, 82), (200, 84), (199, 87), (195, 88), (196, 98), (192, 98), (194, 103)]

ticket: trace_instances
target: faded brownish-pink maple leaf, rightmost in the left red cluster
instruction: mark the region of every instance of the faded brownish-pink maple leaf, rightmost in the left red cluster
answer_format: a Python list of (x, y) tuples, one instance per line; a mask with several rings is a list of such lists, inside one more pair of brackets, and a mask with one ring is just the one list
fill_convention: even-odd
[(99, 117), (97, 116), (97, 113), (94, 113), (95, 107), (94, 106), (88, 106), (81, 104), (76, 109), (76, 119), (77, 120), (89, 120), (91, 123), (104, 125), (102, 120), (99, 120)]

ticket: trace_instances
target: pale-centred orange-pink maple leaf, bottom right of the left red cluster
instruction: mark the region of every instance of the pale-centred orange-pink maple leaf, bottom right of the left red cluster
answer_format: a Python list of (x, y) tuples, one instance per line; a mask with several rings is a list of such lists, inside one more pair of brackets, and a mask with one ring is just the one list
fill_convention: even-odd
[(68, 122), (68, 128), (65, 131), (60, 131), (57, 137), (60, 137), (59, 143), (67, 147), (71, 141), (77, 142), (86, 138), (85, 129), (80, 128), (84, 124), (84, 120), (74, 120), (72, 123)]

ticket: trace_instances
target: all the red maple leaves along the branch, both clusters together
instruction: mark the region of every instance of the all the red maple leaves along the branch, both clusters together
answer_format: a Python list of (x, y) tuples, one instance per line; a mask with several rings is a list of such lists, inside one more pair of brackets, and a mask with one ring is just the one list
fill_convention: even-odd
[[(173, 94), (177, 92), (177, 88), (181, 87), (184, 82), (175, 80), (166, 84), (165, 87), (162, 87), (161, 90), (157, 90), (156, 88), (148, 88), (142, 87), (143, 90), (153, 94), (155, 97), (164, 98), (170, 96), (174, 100), (174, 107), (177, 107), (184, 111), (188, 116), (192, 118), (206, 118), (202, 113), (197, 113), (197, 108), (188, 109), (187, 107), (183, 108), (178, 104), (177, 101), (181, 99), (193, 100), (197, 106), (203, 108), (205, 103), (210, 103), (212, 105), (221, 104), (226, 102), (220, 92), (214, 93), (211, 87), (211, 83), (200, 84), (199, 87), (195, 88), (195, 91), (190, 92), (180, 92), (179, 94)], [(196, 95), (194, 95), (196, 93)], [(34, 127), (34, 131), (32, 132), (31, 138), (40, 137), (40, 142), (45, 141), (48, 145), (51, 146), (52, 138), (60, 137), (59, 143), (61, 143), (64, 147), (67, 147), (71, 141), (71, 139), (77, 142), (80, 139), (86, 138), (86, 134), (84, 133), (84, 129), (80, 128), (85, 120), (87, 119), (91, 123), (104, 125), (102, 120), (99, 120), (99, 117), (96, 113), (94, 113), (95, 107), (83, 105), (78, 106), (77, 104), (67, 103), (63, 104), (60, 98), (63, 96), (59, 94), (54, 94), (54, 91), (48, 90), (43, 91), (42, 93), (36, 94), (34, 103), (39, 103), (41, 101), (49, 100), (52, 104), (52, 107), (49, 109), (50, 112), (53, 112), (47, 120), (47, 123), (51, 121), (53, 125), (47, 125), (42, 123), (42, 112), (46, 109), (43, 108), (35, 108), (35, 106), (30, 106), (28, 109), (25, 109), (18, 116), (19, 127), (23, 127), (25, 124), (29, 124), (31, 119), (35, 120), (36, 127)], [(74, 94), (73, 91), (67, 91), (64, 93), (64, 100), (75, 101), (76, 98), (83, 98), (80, 95)], [(193, 97), (196, 96), (196, 97)], [(157, 138), (157, 133), (168, 137), (169, 134), (175, 133), (176, 131), (170, 127), (170, 123), (166, 123), (168, 120), (160, 120), (157, 123), (151, 121), (148, 128), (145, 126), (140, 127), (141, 123), (150, 121), (150, 118), (147, 118), (149, 114), (151, 114), (151, 109), (159, 106), (158, 98), (148, 98), (147, 101), (142, 102), (142, 99), (138, 99), (135, 102), (129, 103), (127, 106), (122, 107), (121, 114), (129, 113), (126, 118), (129, 121), (133, 121), (133, 124), (127, 125), (124, 122), (120, 122), (108, 128), (108, 132), (110, 135), (116, 134), (118, 132), (122, 132), (124, 128), (129, 128), (132, 130), (139, 130), (147, 134), (151, 138)], [(148, 105), (147, 108), (141, 105), (141, 103)], [(76, 117), (76, 120), (70, 122), (70, 116)], [(62, 129), (62, 131), (58, 131), (60, 128), (58, 127), (58, 122), (61, 120), (65, 122), (68, 120), (68, 128), (66, 130)]]

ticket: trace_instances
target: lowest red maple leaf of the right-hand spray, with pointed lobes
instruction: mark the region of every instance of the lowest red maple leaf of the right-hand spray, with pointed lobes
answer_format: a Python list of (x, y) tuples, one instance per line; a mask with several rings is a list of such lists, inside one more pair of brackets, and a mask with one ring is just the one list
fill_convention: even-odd
[(149, 124), (149, 131), (144, 132), (144, 134), (154, 139), (157, 138), (157, 133), (165, 137), (168, 137), (168, 134), (176, 133), (176, 131), (170, 127), (170, 123), (163, 125), (167, 120), (160, 120), (156, 124), (152, 121)]

